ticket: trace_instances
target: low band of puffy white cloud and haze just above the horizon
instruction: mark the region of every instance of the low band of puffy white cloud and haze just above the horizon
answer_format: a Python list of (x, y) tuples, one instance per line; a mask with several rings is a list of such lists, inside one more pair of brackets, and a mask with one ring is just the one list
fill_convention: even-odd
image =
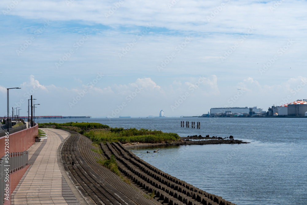
[[(290, 103), (297, 99), (305, 99), (307, 78), (298, 76), (275, 85), (261, 84), (251, 77), (243, 79), (234, 86), (218, 88), (217, 77), (204, 77), (204, 82), (196, 83), (198, 78), (192, 78), (181, 84), (174, 81), (167, 86), (157, 85), (151, 78), (138, 78), (127, 85), (112, 85), (100, 88), (80, 85), (73, 89), (57, 87), (56, 85), (41, 85), (34, 78), (22, 83), (20, 91), (10, 93), (10, 106), (27, 110), (27, 100), (30, 95), (36, 98), (40, 106), (36, 109), (39, 115), (91, 115), (107, 116), (122, 103), (126, 103), (120, 115), (148, 116), (163, 109), (167, 116), (181, 116), (189, 113), (207, 113), (212, 107), (238, 106), (267, 108), (273, 104)], [(196, 84), (196, 85), (195, 85)], [(176, 85), (176, 89), (172, 89)], [(137, 88), (140, 92), (135, 92)], [(192, 92), (192, 89), (194, 91)], [(238, 90), (241, 88), (242, 92)], [(0, 85), (1, 96), (6, 98), (6, 89)], [(85, 90), (85, 92), (84, 92)], [(46, 92), (48, 91), (48, 92)], [(138, 90), (139, 91), (139, 90)], [(180, 106), (172, 110), (171, 105), (181, 99), (185, 93), (189, 95)], [(240, 94), (239, 97), (235, 97)], [(290, 97), (289, 97), (290, 96)], [(285, 102), (287, 100), (288, 102)], [(72, 104), (70, 104), (72, 103)], [(103, 108), (103, 109), (102, 109)], [(158, 110), (158, 111), (157, 111)], [(2, 113), (6, 108), (0, 109)]]

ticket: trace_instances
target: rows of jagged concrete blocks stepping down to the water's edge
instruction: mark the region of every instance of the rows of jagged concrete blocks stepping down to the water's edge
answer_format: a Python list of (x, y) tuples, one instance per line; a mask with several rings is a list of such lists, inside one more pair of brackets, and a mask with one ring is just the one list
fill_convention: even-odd
[(111, 155), (116, 157), (122, 173), (142, 191), (148, 194), (154, 192), (154, 199), (161, 204), (234, 205), (153, 167), (124, 148), (120, 142), (100, 146), (107, 158)]

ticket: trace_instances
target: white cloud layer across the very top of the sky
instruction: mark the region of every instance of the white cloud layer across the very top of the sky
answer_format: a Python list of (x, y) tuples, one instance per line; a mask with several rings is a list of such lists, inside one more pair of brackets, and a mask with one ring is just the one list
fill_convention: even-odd
[[(271, 36), (285, 35), (282, 32), (284, 29), (292, 30), (296, 34), (302, 33), (306, 28), (305, 1), (283, 1), (274, 10), (270, 10), (270, 7), (274, 7), (274, 2), (259, 1), (181, 1), (170, 9), (168, 3), (171, 1), (158, 0), (150, 3), (141, 0), (123, 1), (120, 7), (115, 8), (116, 11), (106, 18), (105, 14), (108, 14), (116, 3), (118, 1), (80, 0), (73, 1), (67, 6), (65, 1), (29, 0), (19, 2), (9, 15), (53, 21), (80, 20), (89, 22), (88, 24), (94, 22), (113, 28), (145, 26), (146, 23), (152, 22), (156, 27), (169, 30), (197, 32), (210, 30), (216, 33), (229, 31), (243, 33), (248, 26), (254, 25), (259, 33)], [(207, 17), (210, 17), (221, 3), (225, 3), (226, 6), (216, 12), (214, 18), (208, 22)], [(6, 10), (6, 6), (10, 4), (9, 0), (1, 1), (1, 10)]]

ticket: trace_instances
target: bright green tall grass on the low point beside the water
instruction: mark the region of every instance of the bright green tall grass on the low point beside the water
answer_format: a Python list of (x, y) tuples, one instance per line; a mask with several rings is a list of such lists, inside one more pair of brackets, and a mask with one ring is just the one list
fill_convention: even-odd
[(90, 130), (84, 132), (93, 142), (121, 142), (122, 144), (140, 143), (162, 143), (165, 141), (177, 141), (180, 139), (177, 133), (165, 133), (161, 130), (148, 130), (130, 128), (110, 128), (109, 130)]

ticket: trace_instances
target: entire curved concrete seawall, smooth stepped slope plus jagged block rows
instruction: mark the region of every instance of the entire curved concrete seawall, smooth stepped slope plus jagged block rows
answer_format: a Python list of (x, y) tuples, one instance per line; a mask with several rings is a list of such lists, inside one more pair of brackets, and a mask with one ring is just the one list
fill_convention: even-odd
[[(62, 162), (89, 204), (235, 205), (151, 166), (119, 142), (100, 144), (103, 154), (98, 154), (87, 137), (68, 132), (72, 136), (61, 149)], [(131, 185), (96, 162), (112, 155)]]

